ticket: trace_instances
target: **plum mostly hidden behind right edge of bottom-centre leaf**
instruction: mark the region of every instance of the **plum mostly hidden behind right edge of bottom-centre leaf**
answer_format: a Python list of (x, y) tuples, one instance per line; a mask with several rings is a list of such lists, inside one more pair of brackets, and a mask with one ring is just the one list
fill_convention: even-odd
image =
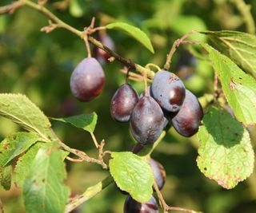
[(166, 170), (158, 161), (150, 158), (150, 167), (154, 175), (154, 180), (158, 185), (158, 189), (161, 190), (166, 182)]

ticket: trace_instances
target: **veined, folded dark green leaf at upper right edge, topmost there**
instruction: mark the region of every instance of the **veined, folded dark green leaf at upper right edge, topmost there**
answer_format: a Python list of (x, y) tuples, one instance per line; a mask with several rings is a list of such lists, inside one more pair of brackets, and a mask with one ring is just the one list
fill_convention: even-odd
[(256, 36), (237, 31), (203, 31), (214, 47), (256, 78)]

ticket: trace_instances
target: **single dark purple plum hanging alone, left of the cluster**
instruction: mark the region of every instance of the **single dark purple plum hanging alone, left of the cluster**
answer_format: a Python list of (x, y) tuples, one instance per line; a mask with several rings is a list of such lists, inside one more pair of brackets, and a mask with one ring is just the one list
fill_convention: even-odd
[(86, 57), (74, 69), (70, 77), (70, 88), (79, 101), (91, 101), (102, 93), (105, 74), (94, 57)]

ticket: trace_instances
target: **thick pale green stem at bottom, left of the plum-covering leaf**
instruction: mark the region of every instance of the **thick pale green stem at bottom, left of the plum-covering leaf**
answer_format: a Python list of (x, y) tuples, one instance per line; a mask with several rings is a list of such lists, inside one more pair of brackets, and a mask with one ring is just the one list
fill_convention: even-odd
[(82, 195), (78, 195), (78, 197), (74, 198), (70, 203), (66, 205), (66, 213), (74, 210), (76, 207), (80, 206), (82, 203), (86, 202), (86, 200), (94, 197), (104, 188), (106, 188), (110, 183), (113, 182), (112, 176), (107, 176), (101, 182), (95, 184), (92, 187), (88, 187)]

